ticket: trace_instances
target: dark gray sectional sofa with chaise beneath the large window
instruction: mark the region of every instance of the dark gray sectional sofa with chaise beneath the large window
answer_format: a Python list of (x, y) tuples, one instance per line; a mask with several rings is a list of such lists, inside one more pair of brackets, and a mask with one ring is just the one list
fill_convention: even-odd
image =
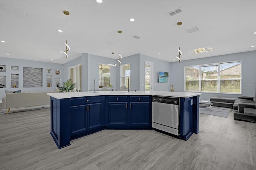
[[(210, 102), (212, 106), (232, 108), (234, 110), (234, 119), (249, 122), (256, 122), (256, 90), (254, 97), (239, 96), (238, 98), (212, 97)], [(251, 108), (246, 111), (244, 108)], [(248, 110), (248, 109), (246, 109)]]

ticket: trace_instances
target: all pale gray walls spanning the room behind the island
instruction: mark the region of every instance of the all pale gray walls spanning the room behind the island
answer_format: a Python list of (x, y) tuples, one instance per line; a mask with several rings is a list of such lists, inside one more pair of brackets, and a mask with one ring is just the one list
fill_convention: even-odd
[[(199, 54), (203, 55), (203, 54)], [(184, 67), (198, 64), (211, 64), (217, 62), (229, 62), (242, 60), (242, 96), (254, 96), (256, 82), (256, 51), (242, 52), (236, 54), (227, 54), (208, 58), (194, 60), (184, 60), (179, 62), (166, 62), (157, 58), (152, 58), (143, 54), (135, 54), (122, 58), (122, 64), (131, 64), (131, 90), (144, 91), (144, 65), (145, 61), (154, 63), (154, 90), (170, 91), (171, 84), (174, 85), (174, 91), (184, 92)], [(68, 67), (82, 64), (82, 91), (92, 90), (92, 82), (95, 79), (98, 82), (98, 64), (115, 64), (117, 67), (111, 67), (111, 84), (113, 88), (120, 88), (120, 66), (115, 59), (92, 54), (81, 54), (80, 57), (67, 62), (66, 64), (55, 64), (50, 62), (36, 62), (32, 60), (20, 60), (14, 58), (0, 57), (0, 64), (6, 65), (6, 72), (0, 72), (0, 76), (6, 76), (6, 88), (0, 88), (0, 100), (5, 96), (5, 90), (22, 90), (22, 92), (43, 92), (54, 91), (55, 87), (47, 87), (46, 75), (52, 75), (52, 84), (55, 84), (55, 70), (59, 69), (62, 82), (67, 80)], [(19, 70), (11, 70), (11, 66), (19, 66)], [(23, 67), (43, 68), (43, 87), (42, 88), (23, 88)], [(51, 74), (46, 74), (47, 68), (52, 69)], [(158, 72), (169, 72), (168, 83), (158, 83)], [(19, 88), (11, 88), (10, 75), (19, 74)], [(97, 90), (98, 88), (96, 88)], [(218, 94), (204, 92), (200, 98), (209, 100), (212, 96), (237, 97), (237, 94)]]

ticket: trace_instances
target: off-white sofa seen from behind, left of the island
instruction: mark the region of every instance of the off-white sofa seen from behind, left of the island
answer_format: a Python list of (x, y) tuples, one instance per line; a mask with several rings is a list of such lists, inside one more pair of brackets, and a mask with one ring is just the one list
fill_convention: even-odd
[(2, 98), (2, 105), (7, 109), (7, 114), (10, 108), (47, 105), (50, 104), (50, 96), (47, 93), (54, 92), (6, 93), (6, 97)]

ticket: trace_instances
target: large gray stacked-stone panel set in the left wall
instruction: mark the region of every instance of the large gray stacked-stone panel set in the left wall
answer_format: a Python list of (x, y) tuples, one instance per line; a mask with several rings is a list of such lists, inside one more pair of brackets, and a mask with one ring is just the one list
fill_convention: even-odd
[(43, 87), (43, 69), (23, 67), (23, 87)]

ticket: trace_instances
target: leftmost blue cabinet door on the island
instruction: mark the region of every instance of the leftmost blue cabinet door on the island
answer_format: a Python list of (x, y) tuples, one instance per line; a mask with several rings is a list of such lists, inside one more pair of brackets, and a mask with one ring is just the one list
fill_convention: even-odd
[(87, 105), (71, 107), (71, 135), (87, 130)]

